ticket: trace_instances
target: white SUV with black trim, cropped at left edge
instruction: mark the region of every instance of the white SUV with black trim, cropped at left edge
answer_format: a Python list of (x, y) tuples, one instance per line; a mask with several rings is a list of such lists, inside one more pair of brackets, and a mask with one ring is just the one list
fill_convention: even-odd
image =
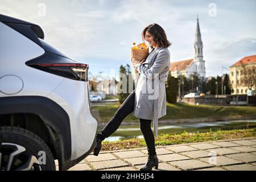
[(0, 14), (0, 170), (66, 170), (96, 146), (88, 68)]

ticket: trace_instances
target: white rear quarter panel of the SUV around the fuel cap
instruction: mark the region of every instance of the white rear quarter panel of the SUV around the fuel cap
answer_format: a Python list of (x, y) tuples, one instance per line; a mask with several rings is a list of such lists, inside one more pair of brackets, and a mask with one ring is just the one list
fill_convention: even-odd
[[(51, 93), (63, 77), (38, 71), (25, 64), (27, 60), (43, 55), (44, 49), (1, 22), (0, 30), (0, 80), (6, 75), (15, 75), (23, 81), (22, 90), (15, 96), (47, 96)], [(11, 87), (13, 84), (1, 85), (5, 90)], [(7, 96), (0, 92), (0, 97)]]

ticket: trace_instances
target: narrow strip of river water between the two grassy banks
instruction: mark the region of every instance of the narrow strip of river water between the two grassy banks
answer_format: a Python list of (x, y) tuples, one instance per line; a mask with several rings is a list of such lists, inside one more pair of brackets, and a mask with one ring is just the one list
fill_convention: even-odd
[[(153, 123), (153, 122), (152, 122)], [(151, 126), (152, 126), (151, 123)], [(256, 127), (256, 119), (253, 120), (236, 120), (236, 121), (218, 121), (218, 122), (200, 122), (200, 123), (171, 123), (159, 124), (159, 134), (180, 134), (184, 131), (188, 133), (204, 133), (209, 130), (232, 130), (232, 129), (249, 129)], [(103, 127), (99, 127), (100, 131)], [(139, 125), (120, 126), (115, 133), (106, 138), (110, 142), (119, 139), (143, 138)]]

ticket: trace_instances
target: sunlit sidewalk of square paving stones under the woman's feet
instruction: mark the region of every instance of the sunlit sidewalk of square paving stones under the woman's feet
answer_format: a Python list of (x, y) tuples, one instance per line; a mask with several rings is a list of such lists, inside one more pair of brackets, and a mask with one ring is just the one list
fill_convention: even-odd
[[(218, 140), (156, 147), (158, 170), (256, 171), (256, 138)], [(69, 170), (137, 171), (147, 160), (146, 148), (90, 154)]]

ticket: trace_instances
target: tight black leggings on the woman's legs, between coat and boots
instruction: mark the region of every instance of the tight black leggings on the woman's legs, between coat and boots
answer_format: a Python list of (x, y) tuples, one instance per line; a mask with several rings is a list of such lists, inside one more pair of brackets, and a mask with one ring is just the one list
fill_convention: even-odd
[[(126, 100), (123, 102), (121, 107), (115, 112), (114, 116), (106, 124), (103, 130), (98, 134), (98, 137), (104, 140), (112, 135), (118, 127), (121, 125), (121, 122), (127, 115), (134, 111), (135, 103), (135, 90), (129, 94)], [(144, 140), (147, 144), (148, 155), (155, 155), (155, 137), (151, 130), (151, 120), (139, 119), (141, 131), (144, 137)]]

